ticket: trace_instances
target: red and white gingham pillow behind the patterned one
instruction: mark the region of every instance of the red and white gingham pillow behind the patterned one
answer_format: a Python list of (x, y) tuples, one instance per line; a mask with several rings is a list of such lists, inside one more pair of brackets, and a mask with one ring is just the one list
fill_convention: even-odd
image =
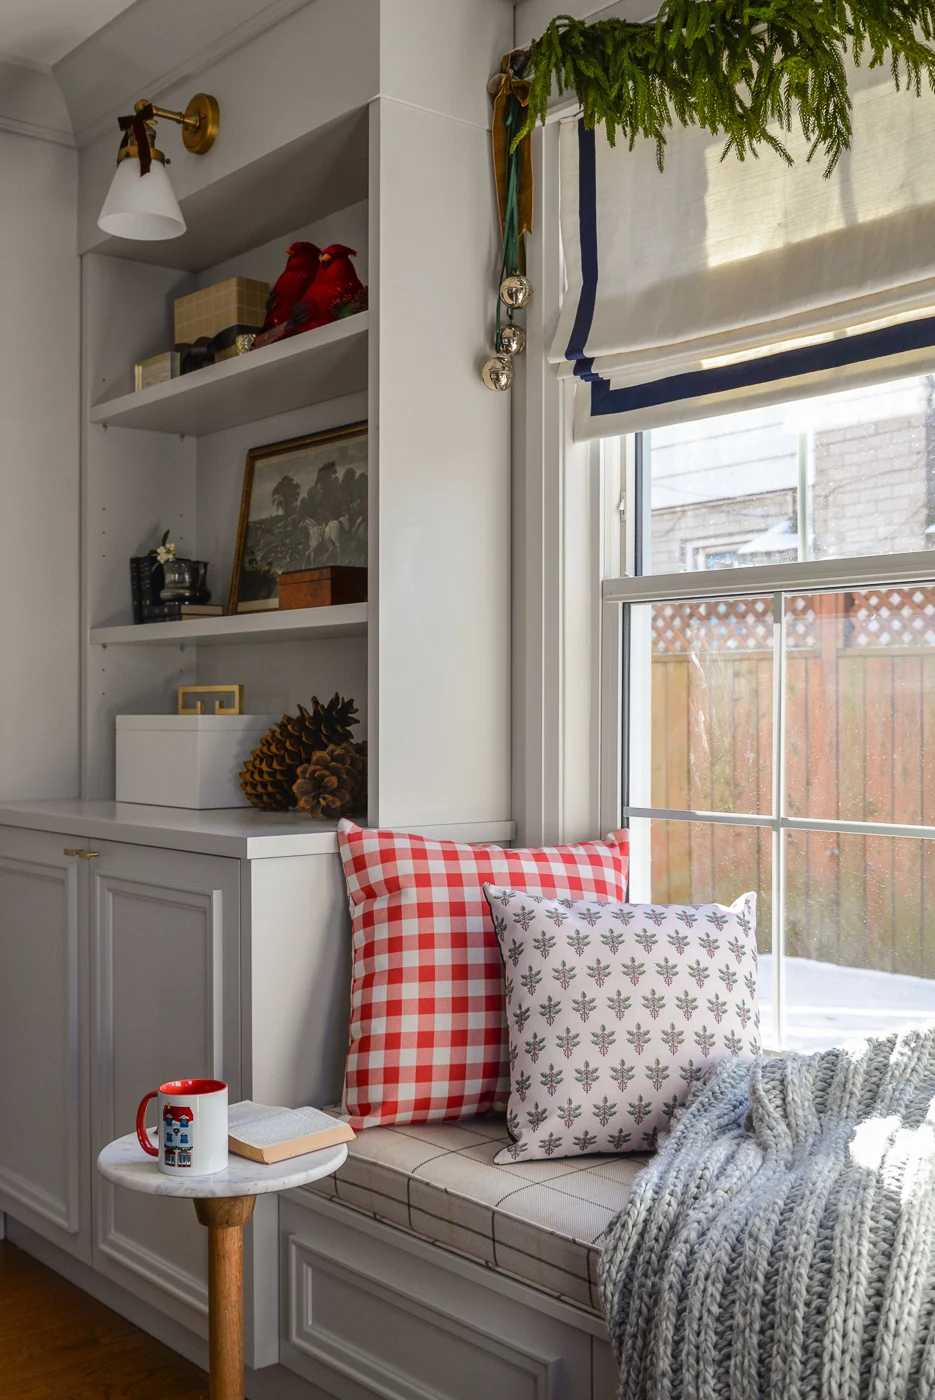
[(511, 851), (342, 822), (353, 923), (351, 1127), (468, 1119), (509, 1098), (504, 972), (484, 883), (626, 899), (628, 840)]

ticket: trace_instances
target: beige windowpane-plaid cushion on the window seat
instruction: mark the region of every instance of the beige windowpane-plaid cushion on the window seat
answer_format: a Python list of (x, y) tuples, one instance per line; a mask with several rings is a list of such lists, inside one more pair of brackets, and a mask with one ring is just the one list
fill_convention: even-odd
[(648, 1158), (494, 1166), (508, 1142), (493, 1114), (367, 1128), (344, 1166), (308, 1190), (600, 1312), (600, 1240)]

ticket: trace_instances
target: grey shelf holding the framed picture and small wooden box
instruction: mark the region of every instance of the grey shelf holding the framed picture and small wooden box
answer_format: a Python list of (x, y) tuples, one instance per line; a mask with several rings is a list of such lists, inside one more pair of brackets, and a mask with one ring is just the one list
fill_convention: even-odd
[(326, 641), (332, 637), (365, 634), (367, 603), (343, 603), (333, 608), (237, 613), (234, 617), (192, 617), (186, 622), (92, 627), (88, 640), (99, 647), (178, 647), (186, 641), (202, 647), (223, 647), (238, 641)]

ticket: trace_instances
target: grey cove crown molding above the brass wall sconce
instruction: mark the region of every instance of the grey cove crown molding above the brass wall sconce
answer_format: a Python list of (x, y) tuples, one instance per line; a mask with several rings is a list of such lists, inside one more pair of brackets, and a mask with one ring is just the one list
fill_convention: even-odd
[[(55, 66), (77, 146), (115, 130), (140, 97), (188, 83), (311, 3), (209, 0), (193, 17), (188, 0), (137, 0)], [(169, 56), (174, 62), (162, 66)]]

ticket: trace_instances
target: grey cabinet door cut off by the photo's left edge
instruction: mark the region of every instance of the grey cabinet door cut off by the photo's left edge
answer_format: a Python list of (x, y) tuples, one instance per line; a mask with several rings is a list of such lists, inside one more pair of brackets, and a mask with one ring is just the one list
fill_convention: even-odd
[(0, 826), (0, 1210), (90, 1257), (88, 861)]

